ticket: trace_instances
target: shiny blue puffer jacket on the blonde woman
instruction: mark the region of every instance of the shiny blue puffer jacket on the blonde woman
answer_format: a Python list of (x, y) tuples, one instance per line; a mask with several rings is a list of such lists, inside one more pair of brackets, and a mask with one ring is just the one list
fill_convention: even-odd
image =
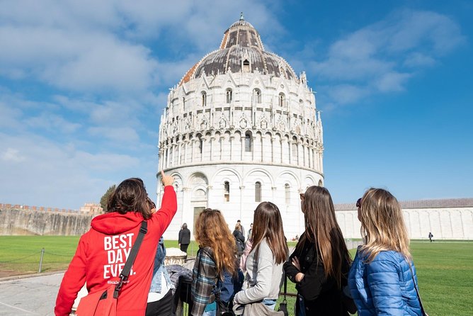
[[(366, 264), (367, 256), (357, 252), (348, 274), (348, 286), (358, 315), (421, 315), (411, 270), (399, 252), (377, 254)], [(416, 268), (411, 263), (416, 279)]]

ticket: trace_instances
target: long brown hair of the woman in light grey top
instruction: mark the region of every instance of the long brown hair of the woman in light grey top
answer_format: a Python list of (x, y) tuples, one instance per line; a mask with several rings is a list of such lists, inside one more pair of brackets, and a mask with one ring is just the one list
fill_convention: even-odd
[(253, 219), (253, 249), (258, 251), (261, 240), (266, 237), (270, 249), (273, 251), (276, 264), (287, 260), (287, 242), (284, 237), (283, 219), (278, 206), (271, 202), (261, 202), (256, 207)]

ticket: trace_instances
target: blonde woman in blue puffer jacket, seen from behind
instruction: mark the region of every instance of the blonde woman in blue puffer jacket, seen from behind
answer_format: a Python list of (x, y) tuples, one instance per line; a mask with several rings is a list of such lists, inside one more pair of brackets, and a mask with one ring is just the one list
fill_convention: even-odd
[(381, 188), (367, 190), (356, 205), (364, 243), (348, 286), (358, 315), (423, 315), (401, 205)]

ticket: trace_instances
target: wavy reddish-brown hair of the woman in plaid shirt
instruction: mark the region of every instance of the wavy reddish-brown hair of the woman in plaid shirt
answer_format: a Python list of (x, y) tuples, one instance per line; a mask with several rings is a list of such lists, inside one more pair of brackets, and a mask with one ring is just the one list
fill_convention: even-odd
[(221, 278), (224, 270), (236, 273), (235, 238), (220, 210), (203, 210), (195, 222), (194, 236), (200, 247), (210, 247), (213, 250), (217, 273)]

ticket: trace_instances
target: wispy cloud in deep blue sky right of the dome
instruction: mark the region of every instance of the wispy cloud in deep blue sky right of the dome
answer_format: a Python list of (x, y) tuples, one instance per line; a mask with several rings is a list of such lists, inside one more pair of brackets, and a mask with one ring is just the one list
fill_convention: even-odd
[(354, 103), (370, 94), (404, 91), (419, 70), (464, 42), (460, 27), (447, 16), (397, 11), (343, 36), (324, 60), (308, 65), (330, 89), (327, 103)]

